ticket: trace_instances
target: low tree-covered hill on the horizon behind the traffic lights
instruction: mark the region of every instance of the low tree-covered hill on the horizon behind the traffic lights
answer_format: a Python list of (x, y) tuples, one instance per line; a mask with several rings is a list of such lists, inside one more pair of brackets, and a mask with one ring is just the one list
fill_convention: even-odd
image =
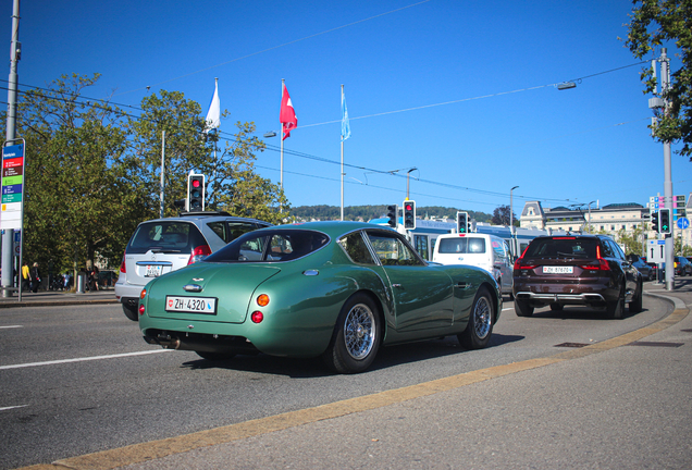
[[(447, 218), (456, 220), (457, 211), (467, 211), (469, 217), (475, 219), (477, 222), (490, 222), (492, 219), (492, 215), (485, 212), (443, 208), (440, 206), (419, 207), (416, 209), (416, 214), (419, 219)], [(368, 222), (370, 219), (386, 217), (386, 206), (347, 206), (344, 208), (344, 220)], [(342, 208), (338, 206), (299, 206), (291, 209), (291, 215), (302, 222), (311, 220), (339, 220), (342, 218)]]

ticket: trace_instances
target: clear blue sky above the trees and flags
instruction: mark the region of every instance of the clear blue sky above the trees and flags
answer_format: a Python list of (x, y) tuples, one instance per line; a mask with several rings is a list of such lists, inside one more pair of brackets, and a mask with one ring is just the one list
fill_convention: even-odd
[[(9, 49), (12, 1), (2, 4)], [(285, 149), (310, 157), (284, 157), (293, 206), (341, 205), (342, 84), (351, 127), (345, 161), (358, 166), (345, 170), (346, 206), (400, 203), (411, 168), (419, 207), (492, 213), (509, 203), (512, 186), (516, 213), (527, 200), (646, 205), (664, 190), (663, 146), (646, 127), (641, 66), (628, 66), (639, 60), (618, 39), (631, 7), (25, 1), (18, 75), (23, 85), (45, 86), (62, 74), (100, 73), (90, 97), (114, 91), (113, 101), (138, 106), (147, 86), (180, 90), (203, 114), (219, 77), (221, 108), (231, 112), (221, 131), (254, 121), (260, 137), (280, 128), (285, 78), (298, 116)], [(553, 86), (578, 78), (574, 89)], [(267, 144), (276, 149), (279, 137)], [(277, 151), (260, 153), (257, 165), (279, 182)], [(674, 153), (675, 194), (692, 191), (691, 165)]]

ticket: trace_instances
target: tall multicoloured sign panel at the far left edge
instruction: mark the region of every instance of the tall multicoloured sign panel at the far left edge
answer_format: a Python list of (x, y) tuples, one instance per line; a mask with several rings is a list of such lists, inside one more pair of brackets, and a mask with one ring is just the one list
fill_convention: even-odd
[(2, 210), (0, 228), (22, 228), (24, 144), (2, 148)]

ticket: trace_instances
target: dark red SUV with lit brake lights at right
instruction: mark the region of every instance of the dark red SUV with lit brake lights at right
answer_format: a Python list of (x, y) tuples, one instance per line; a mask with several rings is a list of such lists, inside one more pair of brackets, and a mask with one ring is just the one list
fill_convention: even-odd
[(519, 317), (548, 305), (605, 308), (614, 319), (622, 318), (626, 302), (632, 313), (642, 310), (642, 275), (605, 235), (534, 238), (515, 263), (514, 281)]

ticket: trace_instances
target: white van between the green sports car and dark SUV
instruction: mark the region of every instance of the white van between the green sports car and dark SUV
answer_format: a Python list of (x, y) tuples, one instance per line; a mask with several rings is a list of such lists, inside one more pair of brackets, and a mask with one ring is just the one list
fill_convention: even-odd
[(433, 262), (467, 264), (484, 269), (497, 281), (502, 292), (511, 295), (512, 264), (507, 242), (479, 233), (440, 235)]

